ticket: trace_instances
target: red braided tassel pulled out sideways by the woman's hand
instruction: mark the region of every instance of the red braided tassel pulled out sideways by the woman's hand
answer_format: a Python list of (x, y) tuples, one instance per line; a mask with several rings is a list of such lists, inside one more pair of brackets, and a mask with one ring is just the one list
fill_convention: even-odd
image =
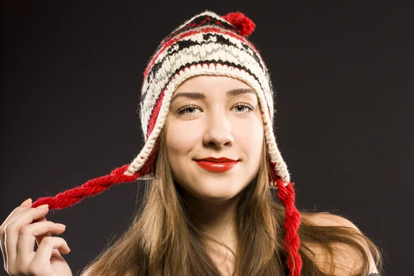
[(83, 197), (90, 197), (91, 195), (102, 193), (114, 184), (135, 181), (139, 176), (139, 172), (135, 173), (135, 175), (124, 175), (124, 172), (129, 166), (130, 164), (126, 164), (115, 168), (110, 172), (110, 175), (89, 180), (81, 186), (55, 195), (55, 197), (40, 197), (34, 201), (32, 207), (35, 208), (42, 204), (48, 204), (50, 210), (60, 210), (79, 203)]

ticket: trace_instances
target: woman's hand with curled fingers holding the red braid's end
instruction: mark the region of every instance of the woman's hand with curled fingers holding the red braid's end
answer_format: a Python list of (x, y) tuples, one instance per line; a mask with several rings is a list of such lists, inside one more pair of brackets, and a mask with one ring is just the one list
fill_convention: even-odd
[(70, 248), (64, 239), (51, 234), (61, 234), (65, 227), (48, 221), (45, 216), (49, 208), (41, 207), (32, 208), (30, 200), (26, 206), (15, 208), (0, 226), (4, 269), (10, 276), (72, 276), (61, 256)]

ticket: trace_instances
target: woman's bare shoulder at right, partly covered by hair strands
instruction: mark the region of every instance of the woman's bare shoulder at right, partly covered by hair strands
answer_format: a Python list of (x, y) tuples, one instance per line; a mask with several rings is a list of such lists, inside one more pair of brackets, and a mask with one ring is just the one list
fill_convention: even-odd
[[(308, 213), (305, 215), (304, 219), (311, 221), (312, 224), (317, 226), (339, 226), (352, 228), (355, 230), (355, 233), (361, 233), (361, 231), (353, 224), (352, 221), (341, 217), (339, 215), (333, 215), (330, 213)], [(364, 248), (365, 253), (367, 253), (369, 262), (370, 262), (370, 273), (377, 273), (377, 268), (375, 268), (375, 262), (373, 256), (371, 255), (370, 250), (364, 239), (358, 235), (353, 236), (353, 240), (358, 242)], [(335, 272), (337, 275), (349, 275), (355, 268), (362, 266), (362, 254), (357, 250), (357, 248), (344, 244), (342, 242), (333, 241), (330, 245), (334, 250), (333, 258), (328, 253), (326, 248), (320, 244), (306, 244), (315, 255), (312, 259), (319, 266), (321, 270), (325, 273)], [(333, 267), (328, 264), (333, 263)]]

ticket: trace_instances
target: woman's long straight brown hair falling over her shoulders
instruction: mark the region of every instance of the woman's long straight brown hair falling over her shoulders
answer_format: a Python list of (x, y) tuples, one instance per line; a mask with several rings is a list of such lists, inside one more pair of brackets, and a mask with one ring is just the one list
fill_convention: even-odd
[[(237, 256), (189, 215), (188, 205), (180, 194), (181, 187), (172, 179), (163, 128), (155, 149), (155, 177), (144, 182), (144, 199), (132, 223), (113, 244), (108, 242), (81, 275), (88, 270), (88, 276), (219, 276), (220, 270), (209, 254), (208, 244), (211, 243), (223, 246), (233, 254), (235, 272), (239, 275), (288, 275), (283, 250), (284, 206), (277, 201), (277, 190), (269, 188), (266, 143), (263, 145), (257, 175), (242, 192), (235, 212)], [(382, 270), (380, 250), (366, 235), (349, 227), (317, 225), (312, 217), (320, 213), (300, 213), (302, 222), (298, 234), (302, 275), (335, 275), (333, 261), (335, 256), (343, 254), (338, 252), (335, 244), (344, 244), (358, 253), (355, 257), (362, 262), (353, 275), (368, 275), (368, 252), (378, 270)], [(315, 262), (321, 251), (314, 250), (313, 245), (327, 254), (325, 259), (329, 263), (324, 264), (325, 268)]]

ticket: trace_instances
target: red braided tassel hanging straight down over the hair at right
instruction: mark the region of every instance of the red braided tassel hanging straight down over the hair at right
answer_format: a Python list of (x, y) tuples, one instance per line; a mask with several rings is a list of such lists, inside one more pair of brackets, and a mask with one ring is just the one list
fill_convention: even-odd
[(295, 190), (293, 183), (289, 182), (288, 186), (284, 186), (282, 179), (277, 179), (277, 197), (285, 206), (285, 222), (284, 228), (286, 235), (284, 237), (284, 250), (288, 254), (289, 276), (299, 276), (302, 270), (302, 257), (299, 254), (300, 239), (297, 235), (301, 217), (295, 206)]

